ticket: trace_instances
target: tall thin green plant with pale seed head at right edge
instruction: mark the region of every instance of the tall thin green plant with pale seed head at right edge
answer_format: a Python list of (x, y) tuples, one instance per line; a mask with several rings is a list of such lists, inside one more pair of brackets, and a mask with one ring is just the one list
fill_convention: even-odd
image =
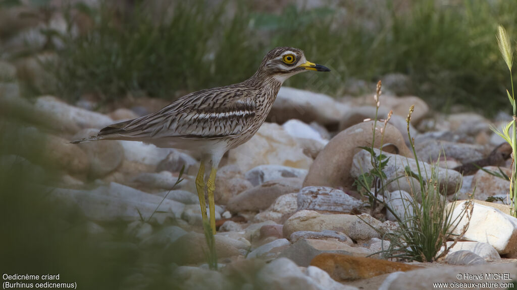
[[(510, 44), (510, 38), (506, 33), (506, 30), (503, 26), (499, 25), (497, 27), (497, 44), (499, 45), (499, 51), (501, 55), (503, 55), (503, 59), (506, 62), (506, 66), (510, 71), (510, 82), (512, 87), (512, 93), (506, 90), (506, 94), (508, 95), (508, 100), (513, 109), (513, 119), (506, 124), (501, 130), (497, 130), (495, 127), (491, 127), (492, 130), (505, 139), (506, 142), (510, 144), (512, 147), (512, 176), (510, 179), (510, 199), (511, 199), (511, 210), (510, 213), (512, 216), (517, 217), (517, 211), (515, 211), (515, 203), (517, 202), (517, 164), (515, 163), (515, 150), (517, 149), (517, 134), (516, 130), (516, 122), (517, 122), (517, 106), (515, 105), (515, 94), (513, 91), (513, 77), (512, 77), (512, 65), (513, 65), (513, 48)], [(510, 134), (510, 127), (512, 133)], [(511, 135), (511, 136), (510, 136)]]

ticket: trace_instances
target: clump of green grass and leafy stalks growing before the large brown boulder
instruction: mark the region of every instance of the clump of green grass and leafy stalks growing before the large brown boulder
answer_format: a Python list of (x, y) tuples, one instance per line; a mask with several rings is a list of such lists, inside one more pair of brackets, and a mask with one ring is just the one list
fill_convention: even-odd
[[(379, 82), (377, 94), (375, 95), (377, 107), (380, 104), (378, 101), (380, 86), (381, 83)], [(386, 180), (386, 174), (383, 172), (383, 169), (386, 167), (389, 158), (382, 154), (382, 151), (376, 153), (373, 149), (375, 142), (375, 139), (373, 139), (372, 147), (361, 147), (370, 152), (373, 168), (369, 172), (358, 176), (355, 185), (359, 192), (369, 198), (372, 207), (374, 207), (376, 203), (383, 204), (386, 210), (389, 211), (399, 223), (399, 228), (394, 232), (378, 230), (378, 232), (382, 234), (383, 239), (390, 241), (389, 247), (386, 249), (383, 248), (381, 251), (383, 256), (391, 259), (432, 262), (445, 256), (449, 249), (455, 245), (456, 241), (461, 239), (468, 228), (468, 222), (463, 229), (461, 229), (460, 235), (454, 236), (452, 232), (455, 231), (459, 221), (463, 218), (470, 220), (473, 205), (472, 201), (467, 202), (466, 206), (461, 209), (460, 214), (454, 217), (454, 206), (452, 204), (448, 206), (447, 200), (443, 195), (443, 193), (447, 191), (447, 186), (439, 182), (438, 166), (435, 165), (431, 167), (431, 172), (421, 168), (418, 156), (416, 155), (414, 140), (409, 133), (409, 123), (413, 111), (414, 106), (411, 106), (406, 123), (410, 148), (413, 150), (415, 156), (417, 172), (413, 172), (407, 166), (405, 168), (405, 176), (400, 176), (393, 180)], [(384, 122), (385, 129), (387, 121)], [(374, 127), (374, 130), (375, 128), (376, 127)], [(381, 133), (384, 132), (381, 131)], [(418, 185), (415, 185), (415, 187), (419, 190), (409, 192), (410, 198), (408, 199), (402, 198), (401, 195), (400, 200), (404, 208), (403, 213), (401, 213), (400, 211), (394, 211), (384, 197), (386, 197), (385, 194), (387, 194), (386, 185), (404, 177), (407, 178), (407, 182), (409, 183), (413, 183), (416, 179)], [(409, 179), (409, 177), (414, 179)], [(414, 185), (411, 185), (411, 188), (414, 188)], [(381, 198), (381, 195), (383, 198)], [(418, 200), (420, 200), (420, 203)], [(451, 246), (448, 246), (447, 241), (451, 239), (454, 240), (454, 242)], [(444, 250), (440, 251), (442, 247)]]

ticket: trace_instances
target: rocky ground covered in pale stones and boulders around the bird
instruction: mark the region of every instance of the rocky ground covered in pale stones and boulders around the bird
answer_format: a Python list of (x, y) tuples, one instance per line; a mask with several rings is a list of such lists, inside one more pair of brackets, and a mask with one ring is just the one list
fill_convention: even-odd
[[(28, 147), (31, 140), (43, 140), (38, 148), (58, 172), (50, 186), (52, 198), (77, 206), (94, 240), (109, 235), (112, 224), (123, 224), (126, 246), (173, 263), (172, 275), (184, 288), (429, 289), (434, 282), (479, 282), (457, 278), (465, 273), (508, 273), (510, 280), (517, 279), (517, 219), (508, 215), (504, 202), (509, 182), (484, 171), (463, 168), (462, 176), (452, 169), (478, 162), (509, 174), (508, 148), (498, 147), (503, 140), (489, 126), (500, 126), (510, 116), (444, 116), (416, 96), (381, 96), (379, 117), (393, 111), (384, 136), (391, 156), (388, 179), (403, 174), (405, 165), (416, 165), (405, 123), (409, 106), (415, 105), (409, 130), (416, 152), (421, 161), (440, 160), (438, 179), (448, 185), (446, 198), (465, 200), (476, 188), (469, 228), (444, 259), (400, 263), (378, 254), (389, 241), (377, 230), (390, 232), (398, 223), (385, 210), (371, 216), (367, 199), (353, 186), (371, 166), (370, 154), (358, 147), (372, 142), (373, 124), (363, 122), (374, 117), (372, 96), (332, 99), (282, 88), (268, 122), (249, 142), (228, 152), (219, 168), (215, 241), (220, 271), (211, 271), (194, 186), (197, 156), (133, 141), (69, 143), (154, 107), (142, 102), (100, 114), (85, 109), (93, 107), (86, 101), (70, 105), (54, 96), (28, 101), (12, 81), (17, 68), (5, 62), (0, 67), (11, 76), (0, 83), (3, 119), (21, 122), (19, 134)], [(31, 156), (0, 157), (3, 165), (34, 162)], [(430, 168), (428, 163), (421, 165)], [(184, 166), (185, 179), (174, 186)], [(44, 170), (38, 164), (32, 168)], [(400, 196), (415, 190), (407, 182), (388, 189), (384, 198), (399, 211)], [(489, 197), (503, 202), (485, 202)], [(145, 284), (143, 268), (128, 279)]]

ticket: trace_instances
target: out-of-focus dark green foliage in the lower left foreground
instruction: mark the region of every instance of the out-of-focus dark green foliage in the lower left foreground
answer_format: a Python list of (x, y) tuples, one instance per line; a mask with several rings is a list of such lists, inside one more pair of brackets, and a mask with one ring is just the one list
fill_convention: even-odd
[(0, 273), (59, 274), (59, 280), (9, 281), (13, 283), (177, 289), (171, 261), (140, 250), (124, 235), (125, 223), (102, 224), (106, 230), (96, 232), (77, 205), (53, 198), (59, 172), (44, 158), (45, 135), (32, 138), (38, 146), (28, 149), (26, 129), (16, 118), (0, 119)]

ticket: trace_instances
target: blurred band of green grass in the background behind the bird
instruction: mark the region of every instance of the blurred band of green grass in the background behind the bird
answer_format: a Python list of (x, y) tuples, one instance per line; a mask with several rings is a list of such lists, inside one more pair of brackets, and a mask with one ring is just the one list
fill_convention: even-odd
[[(514, 1), (343, 2), (338, 9), (287, 6), (276, 14), (245, 1), (196, 0), (161, 9), (163, 15), (141, 3), (124, 10), (109, 2), (73, 7), (93, 26), (79, 37), (59, 36), (65, 45), (52, 69), (58, 86), (38, 93), (71, 102), (83, 94), (105, 102), (128, 94), (172, 100), (240, 82), (268, 50), (285, 45), (332, 69), (293, 77), (288, 86), (341, 96), (348, 80), (403, 73), (411, 93), (442, 110), (462, 104), (490, 115), (504, 108), (504, 98), (495, 97), (509, 80), (493, 39), (498, 23), (515, 31)], [(77, 13), (68, 15), (74, 23)]]

